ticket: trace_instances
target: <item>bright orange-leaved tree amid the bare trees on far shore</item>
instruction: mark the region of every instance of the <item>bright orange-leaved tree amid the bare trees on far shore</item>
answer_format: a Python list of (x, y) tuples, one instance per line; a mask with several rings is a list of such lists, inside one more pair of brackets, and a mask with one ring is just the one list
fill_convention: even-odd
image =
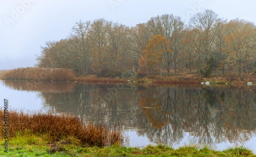
[(160, 76), (162, 76), (162, 68), (164, 68), (170, 75), (172, 50), (169, 48), (169, 44), (170, 42), (162, 35), (153, 36), (152, 39), (149, 39), (148, 46), (140, 59), (140, 66), (145, 67), (148, 72), (158, 68)]

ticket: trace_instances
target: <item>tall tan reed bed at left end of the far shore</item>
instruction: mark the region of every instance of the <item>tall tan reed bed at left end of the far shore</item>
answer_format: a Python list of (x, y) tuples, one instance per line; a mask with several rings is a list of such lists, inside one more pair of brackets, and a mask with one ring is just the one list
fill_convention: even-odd
[(54, 80), (65, 81), (74, 80), (76, 73), (70, 69), (42, 68), (42, 67), (21, 67), (8, 70), (3, 74), (4, 79), (18, 80)]

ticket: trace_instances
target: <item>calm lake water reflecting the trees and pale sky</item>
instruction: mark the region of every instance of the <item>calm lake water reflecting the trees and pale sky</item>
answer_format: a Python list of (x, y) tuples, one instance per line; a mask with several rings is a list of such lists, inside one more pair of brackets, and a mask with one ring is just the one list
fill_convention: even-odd
[(0, 81), (12, 109), (120, 126), (129, 146), (197, 144), (256, 153), (256, 86)]

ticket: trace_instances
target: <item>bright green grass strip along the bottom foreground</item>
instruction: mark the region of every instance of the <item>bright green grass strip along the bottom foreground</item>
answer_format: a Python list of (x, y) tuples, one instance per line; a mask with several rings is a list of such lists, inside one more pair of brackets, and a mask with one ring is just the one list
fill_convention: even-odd
[[(3, 142), (3, 139), (0, 141)], [(74, 137), (67, 137), (58, 142), (50, 142), (46, 135), (17, 134), (9, 142), (8, 154), (0, 147), (1, 157), (256, 157), (252, 151), (244, 148), (230, 148), (225, 151), (214, 151), (208, 148), (198, 149), (197, 146), (184, 146), (172, 149), (168, 146), (147, 146), (144, 149), (127, 148), (117, 145), (99, 148), (83, 145)]]

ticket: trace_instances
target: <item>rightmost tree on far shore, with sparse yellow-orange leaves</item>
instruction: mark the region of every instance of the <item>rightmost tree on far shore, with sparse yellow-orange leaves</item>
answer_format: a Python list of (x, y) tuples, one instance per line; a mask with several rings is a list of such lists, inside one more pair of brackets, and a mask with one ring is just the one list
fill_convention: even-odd
[(245, 20), (231, 20), (228, 24), (228, 32), (225, 38), (225, 53), (227, 62), (239, 69), (243, 80), (244, 67), (255, 57), (256, 27), (253, 23)]

